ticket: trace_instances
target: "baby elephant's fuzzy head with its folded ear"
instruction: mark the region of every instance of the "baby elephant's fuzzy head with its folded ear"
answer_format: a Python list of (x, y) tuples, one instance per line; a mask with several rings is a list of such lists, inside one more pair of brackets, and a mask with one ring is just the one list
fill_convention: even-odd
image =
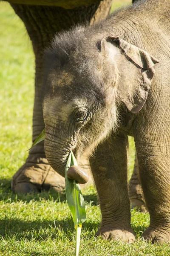
[(72, 31), (45, 52), (45, 154), (60, 175), (71, 150), (79, 157), (119, 128), (119, 108), (143, 107), (159, 61), (119, 37)]

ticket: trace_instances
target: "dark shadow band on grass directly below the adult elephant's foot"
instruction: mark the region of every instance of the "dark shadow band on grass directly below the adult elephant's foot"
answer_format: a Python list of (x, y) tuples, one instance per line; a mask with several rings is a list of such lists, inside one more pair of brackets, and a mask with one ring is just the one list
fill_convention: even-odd
[[(85, 190), (83, 191), (85, 192)], [(97, 205), (97, 197), (96, 194), (91, 193), (88, 189), (89, 194), (84, 195), (85, 202), (91, 203), (91, 205)], [(87, 193), (87, 192), (86, 192)], [(57, 202), (64, 202), (66, 201), (65, 190), (58, 193), (55, 192), (53, 189), (50, 191), (42, 191), (40, 193), (30, 193), (30, 194), (14, 194), (11, 191), (11, 180), (9, 179), (0, 179), (0, 200), (9, 200), (10, 202), (30, 202), (31, 200), (34, 201), (42, 201), (50, 200), (50, 201), (57, 201)]]

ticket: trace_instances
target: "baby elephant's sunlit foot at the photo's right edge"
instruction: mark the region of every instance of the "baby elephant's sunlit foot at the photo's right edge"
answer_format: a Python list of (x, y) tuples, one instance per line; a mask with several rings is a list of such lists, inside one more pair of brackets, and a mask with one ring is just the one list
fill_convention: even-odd
[(167, 244), (170, 242), (170, 232), (160, 227), (155, 229), (153, 227), (148, 227), (144, 231), (142, 237), (152, 243)]

